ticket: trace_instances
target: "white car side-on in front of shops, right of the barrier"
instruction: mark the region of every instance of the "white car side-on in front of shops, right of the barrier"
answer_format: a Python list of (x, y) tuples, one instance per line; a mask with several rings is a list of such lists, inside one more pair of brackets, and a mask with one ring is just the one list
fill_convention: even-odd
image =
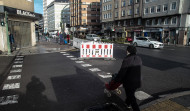
[(163, 48), (164, 44), (158, 42), (157, 40), (151, 37), (136, 37), (133, 40), (134, 46), (142, 46), (142, 47), (149, 47), (149, 48)]

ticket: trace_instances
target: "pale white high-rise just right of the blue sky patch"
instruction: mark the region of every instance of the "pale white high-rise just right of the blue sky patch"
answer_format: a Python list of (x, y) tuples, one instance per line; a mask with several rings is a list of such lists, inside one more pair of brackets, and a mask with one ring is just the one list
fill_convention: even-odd
[(61, 12), (69, 0), (55, 0), (47, 6), (48, 32), (61, 31)]

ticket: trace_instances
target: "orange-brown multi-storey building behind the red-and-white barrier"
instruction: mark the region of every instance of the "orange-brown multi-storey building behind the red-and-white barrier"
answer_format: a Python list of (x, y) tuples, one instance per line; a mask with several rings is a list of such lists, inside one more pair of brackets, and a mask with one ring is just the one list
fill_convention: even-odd
[(100, 0), (70, 0), (71, 31), (85, 35), (101, 30)]

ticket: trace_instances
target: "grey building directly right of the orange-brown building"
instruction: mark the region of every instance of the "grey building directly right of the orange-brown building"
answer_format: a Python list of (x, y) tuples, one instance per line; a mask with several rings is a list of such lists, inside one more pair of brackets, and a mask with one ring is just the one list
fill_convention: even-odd
[(102, 0), (103, 32), (110, 30), (109, 36), (115, 37), (140, 36), (143, 29), (141, 9), (141, 0)]

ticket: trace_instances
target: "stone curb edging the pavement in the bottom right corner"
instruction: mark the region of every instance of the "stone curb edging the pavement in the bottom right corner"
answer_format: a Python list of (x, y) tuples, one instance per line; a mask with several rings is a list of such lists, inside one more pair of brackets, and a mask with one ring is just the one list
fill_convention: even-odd
[(169, 100), (169, 99), (173, 99), (173, 98), (177, 98), (177, 97), (180, 97), (180, 96), (185, 96), (185, 95), (190, 95), (190, 91), (183, 91), (183, 92), (178, 92), (178, 93), (173, 93), (173, 94), (166, 94), (166, 95), (161, 95), (160, 99), (157, 99), (157, 100), (153, 100), (147, 104), (144, 104), (142, 106), (140, 106), (140, 109), (145, 109), (153, 104), (156, 104), (158, 102), (163, 102), (165, 100)]

